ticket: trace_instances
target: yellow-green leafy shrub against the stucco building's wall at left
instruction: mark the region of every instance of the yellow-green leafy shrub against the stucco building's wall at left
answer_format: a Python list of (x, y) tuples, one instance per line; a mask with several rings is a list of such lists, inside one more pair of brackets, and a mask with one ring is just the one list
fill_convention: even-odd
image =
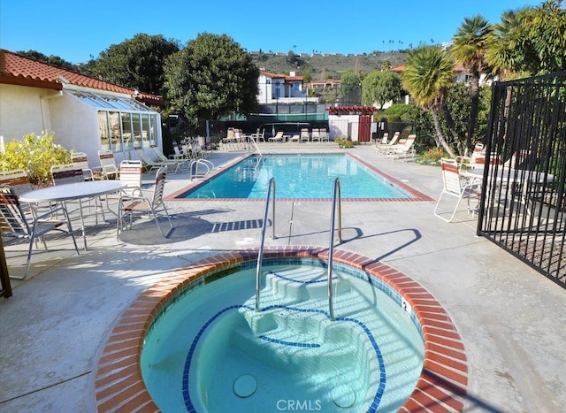
[(51, 182), (53, 164), (69, 164), (71, 151), (53, 143), (55, 134), (27, 134), (21, 140), (9, 141), (0, 153), (0, 170), (23, 169), (32, 185), (46, 186)]

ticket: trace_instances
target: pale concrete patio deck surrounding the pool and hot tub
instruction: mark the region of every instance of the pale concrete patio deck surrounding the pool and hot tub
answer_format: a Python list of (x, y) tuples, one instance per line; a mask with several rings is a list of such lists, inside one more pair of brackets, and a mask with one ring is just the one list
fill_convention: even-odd
[[(316, 145), (261, 149), (339, 150)], [(342, 203), (343, 242), (335, 248), (393, 266), (444, 306), (468, 356), (465, 411), (565, 411), (566, 291), (478, 238), (465, 203), (454, 223), (434, 217), (438, 167), (386, 162), (371, 145), (346, 150), (433, 199)], [(215, 152), (210, 160), (221, 165), (238, 156)], [(187, 172), (169, 175), (165, 193), (187, 184)], [(264, 202), (171, 200), (167, 206), (175, 226), (169, 239), (147, 220), (116, 241), (109, 219), (88, 228), (88, 251), (77, 256), (68, 239), (48, 241), (49, 253), (32, 256), (33, 277), (12, 280), (13, 296), (0, 300), (0, 411), (96, 411), (97, 360), (122, 311), (172, 269), (259, 246)], [(330, 203), (277, 203), (277, 239), (266, 245), (327, 247), (330, 210)], [(26, 248), (6, 247), (11, 273), (23, 272)]]

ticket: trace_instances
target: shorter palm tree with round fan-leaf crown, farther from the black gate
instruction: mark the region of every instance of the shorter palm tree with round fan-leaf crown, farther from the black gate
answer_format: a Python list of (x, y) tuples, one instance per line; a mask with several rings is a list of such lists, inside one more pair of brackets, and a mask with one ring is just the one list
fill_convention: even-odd
[(421, 46), (409, 51), (401, 76), (403, 88), (409, 91), (418, 105), (431, 113), (436, 130), (436, 144), (442, 146), (450, 157), (455, 157), (440, 126), (440, 118), (443, 118), (460, 151), (462, 145), (446, 104), (447, 89), (454, 83), (454, 62), (438, 47)]

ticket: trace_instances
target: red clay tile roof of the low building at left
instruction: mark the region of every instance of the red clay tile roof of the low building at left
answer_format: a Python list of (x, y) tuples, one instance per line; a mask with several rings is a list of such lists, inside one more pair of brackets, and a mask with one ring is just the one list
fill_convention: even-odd
[[(63, 67), (50, 65), (9, 50), (0, 49), (0, 83), (62, 90), (64, 82), (75, 86), (126, 95), (134, 95), (135, 92), (133, 88), (118, 86), (108, 81), (92, 78)], [(137, 99), (149, 104), (162, 103), (161, 96), (143, 92), (139, 93)]]

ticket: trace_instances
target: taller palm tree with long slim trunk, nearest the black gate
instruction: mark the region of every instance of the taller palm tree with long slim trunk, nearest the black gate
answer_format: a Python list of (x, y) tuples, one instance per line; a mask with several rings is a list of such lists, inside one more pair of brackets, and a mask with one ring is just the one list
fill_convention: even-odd
[(471, 105), (470, 119), (468, 120), (468, 136), (466, 150), (471, 146), (471, 138), (478, 122), (479, 108), (479, 80), (482, 73), (488, 71), (486, 51), (493, 27), (482, 16), (463, 19), (462, 26), (454, 36), (451, 53), (456, 62), (461, 63), (471, 74)]

